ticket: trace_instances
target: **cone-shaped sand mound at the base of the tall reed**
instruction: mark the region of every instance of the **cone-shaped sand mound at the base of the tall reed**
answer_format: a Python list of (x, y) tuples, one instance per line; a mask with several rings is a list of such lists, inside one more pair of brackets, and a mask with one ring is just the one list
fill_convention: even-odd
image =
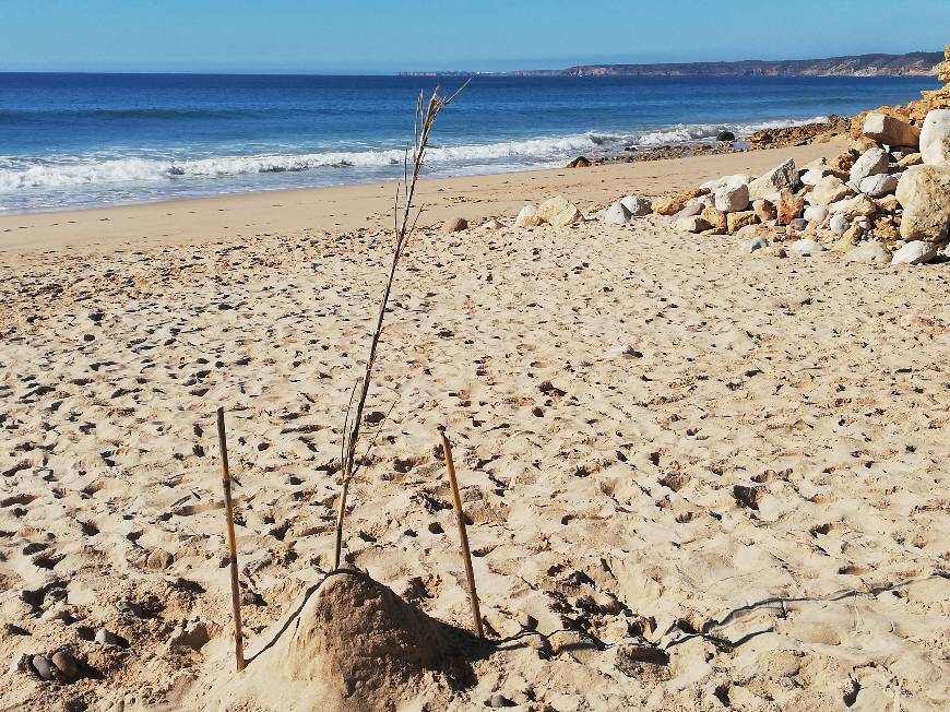
[[(360, 572), (330, 575), (281, 629), (241, 687), (282, 711), (395, 710), (442, 698), (458, 678), (458, 661), (448, 663), (460, 631)], [(278, 707), (275, 697), (284, 698)]]

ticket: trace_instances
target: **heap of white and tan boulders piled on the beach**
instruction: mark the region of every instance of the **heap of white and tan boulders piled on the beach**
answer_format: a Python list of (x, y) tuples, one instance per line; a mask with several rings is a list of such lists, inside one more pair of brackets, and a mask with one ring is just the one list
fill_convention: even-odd
[(735, 235), (747, 252), (931, 262), (950, 241), (950, 110), (931, 109), (921, 126), (867, 114), (831, 161), (723, 176), (655, 201), (654, 212), (680, 230)]

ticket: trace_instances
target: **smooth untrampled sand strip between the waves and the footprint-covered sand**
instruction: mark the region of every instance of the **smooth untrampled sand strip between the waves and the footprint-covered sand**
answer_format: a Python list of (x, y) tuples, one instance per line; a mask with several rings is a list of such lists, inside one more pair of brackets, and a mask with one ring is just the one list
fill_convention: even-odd
[[(563, 192), (582, 210), (628, 192), (656, 197), (731, 173), (761, 173), (785, 157), (807, 163), (832, 156), (838, 143), (702, 154), (679, 158), (609, 163), (590, 168), (544, 168), (514, 173), (426, 179), (420, 226), (463, 216), (470, 224), (513, 217), (530, 201)], [(212, 198), (111, 205), (46, 213), (0, 215), (0, 256), (49, 249), (108, 250), (154, 244), (197, 244), (250, 239), (300, 230), (352, 232), (385, 226), (395, 181), (296, 188)]]

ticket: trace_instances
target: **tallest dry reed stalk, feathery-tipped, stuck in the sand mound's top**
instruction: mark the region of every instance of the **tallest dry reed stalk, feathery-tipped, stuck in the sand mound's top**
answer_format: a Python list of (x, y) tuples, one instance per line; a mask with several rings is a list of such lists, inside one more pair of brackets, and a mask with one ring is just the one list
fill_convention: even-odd
[[(343, 441), (340, 448), (340, 470), (342, 472), (342, 486), (340, 491), (340, 500), (336, 508), (336, 545), (333, 556), (333, 569), (340, 568), (340, 557), (343, 549), (343, 521), (346, 517), (346, 496), (349, 491), (349, 482), (356, 470), (356, 449), (359, 444), (359, 428), (363, 423), (363, 411), (366, 406), (366, 397), (369, 394), (369, 382), (372, 376), (372, 367), (376, 363), (377, 349), (379, 348), (379, 340), (382, 336), (382, 322), (385, 318), (387, 306), (389, 305), (389, 296), (392, 290), (392, 283), (395, 278), (396, 266), (400, 258), (405, 250), (406, 244), (412, 237), (416, 228), (416, 223), (423, 212), (421, 207), (414, 209), (413, 197), (416, 192), (416, 183), (419, 179), (419, 171), (423, 168), (426, 149), (429, 145), (429, 133), (432, 126), (436, 123), (436, 117), (443, 108), (446, 108), (456, 96), (468, 85), (465, 82), (451, 96), (442, 96), (439, 94), (437, 86), (429, 97), (428, 103), (425, 102), (425, 95), (419, 92), (419, 97), (416, 102), (416, 122), (414, 127), (414, 143), (412, 157), (406, 149), (405, 158), (403, 161), (403, 182), (396, 185), (395, 204), (393, 206), (393, 236), (395, 244), (393, 245), (392, 263), (387, 277), (385, 287), (382, 293), (382, 298), (379, 305), (379, 315), (376, 320), (376, 329), (372, 332), (372, 339), (369, 344), (369, 355), (366, 359), (366, 367), (363, 376), (354, 385), (349, 396), (349, 405), (346, 408), (346, 418), (343, 422)], [(412, 165), (412, 173), (409, 171)], [(400, 198), (403, 199), (403, 204), (400, 205)]]

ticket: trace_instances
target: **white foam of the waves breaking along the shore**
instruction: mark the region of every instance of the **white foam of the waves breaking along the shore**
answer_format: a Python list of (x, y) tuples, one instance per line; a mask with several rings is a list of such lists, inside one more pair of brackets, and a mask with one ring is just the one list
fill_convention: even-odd
[[(721, 131), (747, 134), (765, 128), (781, 128), (824, 120), (776, 120), (759, 123), (696, 123), (630, 133), (587, 132), (567, 137), (503, 141), (498, 143), (436, 146), (429, 149), (427, 163), (451, 173), (472, 166), (529, 167), (544, 165), (578, 153), (603, 153), (626, 145), (653, 147), (714, 139)], [(223, 156), (193, 161), (143, 157), (48, 159), (0, 157), (0, 192), (25, 189), (94, 187), (142, 183), (188, 178), (226, 178), (249, 174), (305, 171), (322, 168), (355, 167), (384, 170), (402, 165), (401, 150), (326, 152)]]

